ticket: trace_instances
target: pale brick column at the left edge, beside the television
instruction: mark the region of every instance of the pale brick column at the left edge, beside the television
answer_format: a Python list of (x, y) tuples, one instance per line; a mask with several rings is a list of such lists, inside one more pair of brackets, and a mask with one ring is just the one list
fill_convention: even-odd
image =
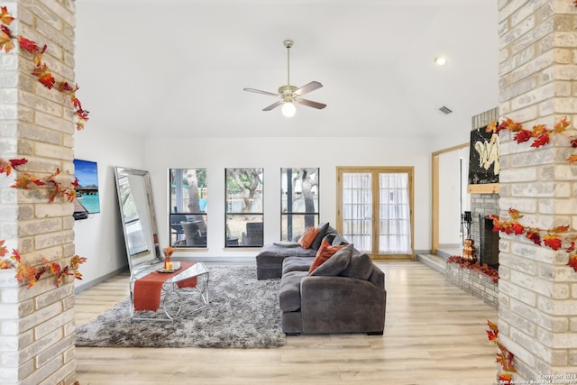
[[(3, 1), (15, 17), (10, 29), (39, 45), (55, 78), (74, 84), (74, 2)], [(31, 56), (17, 48), (0, 53), (0, 150), (4, 159), (29, 160), (20, 170), (39, 177), (74, 170), (73, 111), (69, 100), (31, 75)], [(42, 257), (68, 264), (74, 254), (73, 206), (48, 203), (47, 189), (9, 188), (0, 176), (0, 239), (28, 264)], [(19, 285), (14, 270), (0, 271), (0, 382), (68, 384), (74, 381), (74, 283), (55, 287), (45, 274), (34, 287)]]

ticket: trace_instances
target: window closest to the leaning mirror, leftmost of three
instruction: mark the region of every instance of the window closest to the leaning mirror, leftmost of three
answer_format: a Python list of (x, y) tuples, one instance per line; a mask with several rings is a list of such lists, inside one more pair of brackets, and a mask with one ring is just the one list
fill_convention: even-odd
[(170, 245), (206, 247), (206, 169), (171, 169)]

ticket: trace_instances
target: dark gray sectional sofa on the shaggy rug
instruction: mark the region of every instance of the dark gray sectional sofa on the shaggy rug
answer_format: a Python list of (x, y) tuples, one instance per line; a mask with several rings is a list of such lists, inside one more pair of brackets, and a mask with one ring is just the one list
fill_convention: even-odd
[[(256, 257), (260, 280), (280, 278), (282, 331), (382, 335), (385, 273), (328, 224), (319, 227), (318, 239), (307, 249), (298, 243), (274, 243)], [(323, 239), (344, 247), (309, 273)]]

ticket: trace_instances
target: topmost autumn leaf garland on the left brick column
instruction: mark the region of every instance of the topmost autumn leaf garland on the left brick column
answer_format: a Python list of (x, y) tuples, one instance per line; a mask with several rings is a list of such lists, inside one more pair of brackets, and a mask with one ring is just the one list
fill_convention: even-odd
[(5, 6), (0, 7), (0, 51), (5, 50), (6, 53), (14, 50), (14, 39), (18, 41), (18, 46), (30, 54), (34, 61), (34, 69), (32, 75), (38, 78), (38, 81), (48, 89), (56, 88), (62, 95), (69, 98), (70, 104), (74, 108), (74, 115), (76, 117), (76, 129), (82, 130), (85, 122), (88, 120), (88, 111), (82, 108), (82, 104), (76, 92), (78, 85), (74, 87), (65, 80), (57, 80), (52, 75), (49, 67), (42, 61), (42, 55), (47, 49), (46, 45), (39, 46), (35, 41), (24, 38), (23, 36), (14, 36), (10, 30), (9, 25), (14, 21), (14, 17), (8, 13)]

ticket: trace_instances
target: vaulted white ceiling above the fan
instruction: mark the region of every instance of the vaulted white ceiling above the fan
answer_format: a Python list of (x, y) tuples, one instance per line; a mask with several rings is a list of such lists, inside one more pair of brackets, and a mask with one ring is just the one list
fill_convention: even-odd
[[(147, 137), (435, 136), (498, 105), (495, 0), (77, 0), (88, 126)], [(287, 119), (276, 92), (324, 87)], [(434, 59), (445, 56), (444, 67)], [(453, 114), (444, 115), (446, 106)]]

